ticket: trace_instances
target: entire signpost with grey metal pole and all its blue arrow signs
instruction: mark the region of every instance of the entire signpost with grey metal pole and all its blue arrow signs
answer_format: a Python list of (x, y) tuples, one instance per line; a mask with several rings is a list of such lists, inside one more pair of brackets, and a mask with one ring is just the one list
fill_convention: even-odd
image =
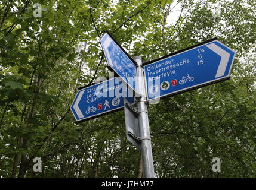
[[(212, 39), (142, 64), (140, 56), (131, 59), (109, 33), (101, 46), (120, 77), (80, 88), (70, 109), (81, 122), (124, 107), (127, 139), (141, 150), (143, 176), (155, 178), (147, 103), (229, 79), (235, 51)], [(139, 95), (136, 103), (134, 94)]]

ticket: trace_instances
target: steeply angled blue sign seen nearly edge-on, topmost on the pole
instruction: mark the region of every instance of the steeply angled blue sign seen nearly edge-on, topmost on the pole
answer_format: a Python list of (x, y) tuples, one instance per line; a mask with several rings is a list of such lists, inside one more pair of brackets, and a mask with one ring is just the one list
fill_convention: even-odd
[(136, 92), (136, 65), (125, 50), (109, 33), (101, 38), (101, 46), (107, 59), (107, 64)]

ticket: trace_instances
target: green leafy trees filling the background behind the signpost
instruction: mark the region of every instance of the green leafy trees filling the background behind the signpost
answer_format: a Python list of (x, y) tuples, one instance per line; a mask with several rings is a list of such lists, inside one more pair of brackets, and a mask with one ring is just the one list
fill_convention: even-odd
[(0, 177), (137, 177), (123, 111), (76, 124), (69, 110), (78, 87), (109, 77), (105, 30), (144, 62), (213, 37), (236, 50), (231, 80), (149, 105), (155, 172), (256, 177), (255, 1), (178, 1), (175, 23), (171, 0), (40, 1), (42, 17), (38, 1), (0, 2)]

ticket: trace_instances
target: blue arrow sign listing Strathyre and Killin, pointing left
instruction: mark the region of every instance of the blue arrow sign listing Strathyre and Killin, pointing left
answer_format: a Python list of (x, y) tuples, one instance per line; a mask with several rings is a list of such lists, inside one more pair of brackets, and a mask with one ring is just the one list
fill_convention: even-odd
[(85, 121), (124, 107), (124, 97), (134, 103), (131, 90), (119, 77), (84, 87), (78, 91), (70, 109), (76, 121)]

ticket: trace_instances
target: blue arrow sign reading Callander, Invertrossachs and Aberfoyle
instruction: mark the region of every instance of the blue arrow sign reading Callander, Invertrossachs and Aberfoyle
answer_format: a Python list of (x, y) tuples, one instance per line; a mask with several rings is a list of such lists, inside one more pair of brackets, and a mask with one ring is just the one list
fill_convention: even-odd
[(144, 63), (149, 100), (171, 96), (229, 79), (235, 51), (208, 42)]

